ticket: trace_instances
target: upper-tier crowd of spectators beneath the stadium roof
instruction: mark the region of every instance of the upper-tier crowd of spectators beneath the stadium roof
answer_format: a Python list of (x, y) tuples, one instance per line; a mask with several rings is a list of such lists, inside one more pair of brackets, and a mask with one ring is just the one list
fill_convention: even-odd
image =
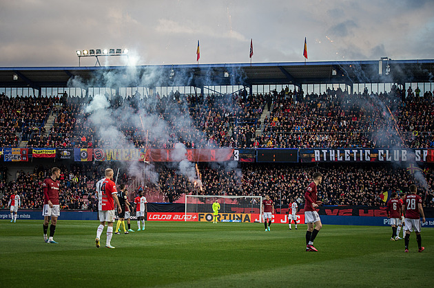
[[(125, 142), (138, 148), (171, 148), (178, 142), (187, 148), (434, 147), (431, 91), (420, 97), (395, 86), (389, 93), (327, 89), (304, 95), (287, 87), (251, 96), (245, 90), (207, 96), (178, 91), (162, 97), (107, 95), (108, 117), (125, 137), (122, 142), (99, 133), (101, 127), (85, 111), (93, 99), (3, 94), (0, 141), (3, 146), (29, 140), (28, 147), (76, 148), (121, 148)], [(56, 118), (45, 133), (41, 123), (50, 113)], [(138, 116), (153, 122), (153, 129), (145, 132)]]

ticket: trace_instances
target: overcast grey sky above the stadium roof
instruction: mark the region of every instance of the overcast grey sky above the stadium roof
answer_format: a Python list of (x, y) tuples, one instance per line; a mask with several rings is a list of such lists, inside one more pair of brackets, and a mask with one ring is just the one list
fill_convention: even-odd
[(248, 63), (251, 38), (254, 63), (301, 62), (304, 37), (308, 61), (433, 59), (434, 1), (0, 0), (0, 67), (195, 64), (198, 40), (200, 64)]

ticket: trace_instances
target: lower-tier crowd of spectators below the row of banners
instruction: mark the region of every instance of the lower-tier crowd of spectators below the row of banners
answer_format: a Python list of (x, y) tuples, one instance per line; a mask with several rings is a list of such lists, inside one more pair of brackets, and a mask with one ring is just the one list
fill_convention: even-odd
[[(61, 166), (60, 202), (62, 209), (95, 210), (96, 198), (94, 184), (102, 175), (106, 164), (72, 164), (69, 168)], [(269, 194), (276, 205), (287, 206), (290, 199), (304, 203), (304, 192), (311, 182), (313, 172), (324, 174), (318, 186), (318, 199), (327, 206), (384, 206), (380, 198), (383, 192), (389, 195), (395, 191), (408, 192), (413, 183), (419, 186), (424, 206), (434, 207), (434, 174), (429, 168), (424, 170), (426, 183), (415, 180), (406, 168), (393, 168), (386, 165), (329, 164), (322, 166), (289, 166), (285, 164), (243, 164), (240, 168), (229, 170), (225, 167), (200, 166), (202, 188), (194, 184), (183, 171), (169, 168), (164, 164), (155, 166), (158, 181), (152, 183), (145, 179), (141, 188), (149, 201), (174, 202), (187, 194), (194, 195), (253, 195)], [(134, 173), (133, 173), (134, 174)], [(16, 181), (3, 181), (0, 187), (3, 197), (0, 206), (6, 208), (10, 193), (16, 190), (21, 196), (21, 208), (41, 209), (43, 206), (43, 179), (49, 177), (50, 168), (37, 166), (32, 173), (19, 171)], [(118, 175), (118, 183), (127, 184), (129, 199), (133, 201), (139, 186), (133, 186), (134, 176), (125, 171)], [(1, 192), (1, 191), (0, 191)], [(182, 199), (182, 198), (181, 198)]]

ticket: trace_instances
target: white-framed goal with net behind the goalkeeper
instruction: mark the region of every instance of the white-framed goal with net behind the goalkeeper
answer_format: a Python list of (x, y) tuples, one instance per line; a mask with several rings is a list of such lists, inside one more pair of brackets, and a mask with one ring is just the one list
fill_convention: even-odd
[(220, 204), (218, 222), (262, 222), (261, 196), (185, 195), (185, 221), (214, 221), (212, 204)]

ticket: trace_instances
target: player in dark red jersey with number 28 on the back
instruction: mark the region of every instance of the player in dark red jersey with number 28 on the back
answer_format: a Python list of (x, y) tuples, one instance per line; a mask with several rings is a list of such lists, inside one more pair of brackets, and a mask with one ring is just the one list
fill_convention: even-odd
[(409, 242), (410, 234), (415, 230), (417, 247), (419, 247), (419, 252), (425, 250), (422, 247), (422, 237), (420, 236), (420, 215), (422, 215), (422, 220), (425, 222), (424, 208), (422, 208), (422, 198), (417, 195), (417, 186), (412, 184), (410, 186), (410, 193), (404, 199), (404, 216), (405, 216), (405, 252), (409, 252)]

